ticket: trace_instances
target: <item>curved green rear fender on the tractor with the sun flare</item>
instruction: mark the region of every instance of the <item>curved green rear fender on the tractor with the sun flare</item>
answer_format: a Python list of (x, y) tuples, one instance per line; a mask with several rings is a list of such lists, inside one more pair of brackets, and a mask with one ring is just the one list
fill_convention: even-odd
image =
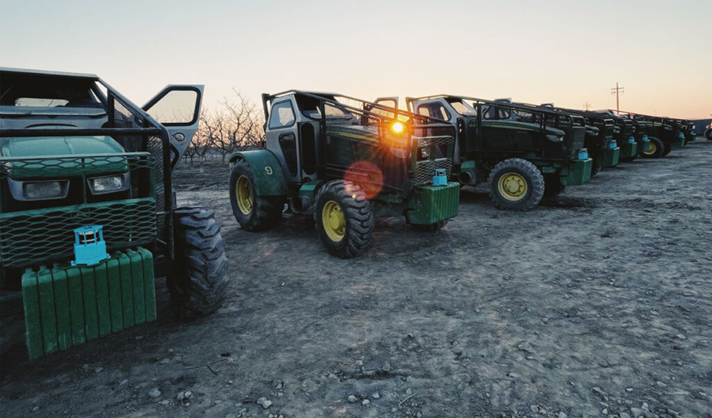
[(277, 157), (268, 150), (238, 151), (229, 157), (230, 164), (244, 160), (255, 177), (258, 196), (286, 196), (287, 181)]

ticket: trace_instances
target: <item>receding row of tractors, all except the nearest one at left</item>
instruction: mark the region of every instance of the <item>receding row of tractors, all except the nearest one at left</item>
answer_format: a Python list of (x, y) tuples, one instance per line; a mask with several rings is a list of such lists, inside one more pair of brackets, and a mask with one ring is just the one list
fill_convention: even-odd
[(367, 102), (289, 90), (262, 95), (265, 144), (235, 152), (230, 202), (243, 229), (313, 216), (342, 258), (370, 245), (377, 216), (436, 231), (459, 191), (487, 183), (496, 207), (524, 211), (601, 169), (660, 158), (695, 138), (687, 120), (580, 111), (461, 95)]

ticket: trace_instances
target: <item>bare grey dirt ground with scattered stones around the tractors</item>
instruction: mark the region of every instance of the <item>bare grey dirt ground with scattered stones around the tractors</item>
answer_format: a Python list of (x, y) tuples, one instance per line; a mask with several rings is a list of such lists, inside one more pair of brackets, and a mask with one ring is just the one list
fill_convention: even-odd
[(712, 142), (525, 213), (465, 188), (349, 260), (305, 218), (241, 230), (226, 167), (176, 177), (224, 223), (224, 307), (177, 322), (159, 280), (157, 322), (36, 362), (9, 318), (1, 417), (712, 417)]

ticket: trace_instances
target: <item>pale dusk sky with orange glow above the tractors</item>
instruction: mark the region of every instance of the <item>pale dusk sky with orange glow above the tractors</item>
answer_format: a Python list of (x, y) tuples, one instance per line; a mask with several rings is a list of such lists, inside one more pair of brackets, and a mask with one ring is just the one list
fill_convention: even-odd
[(712, 113), (712, 1), (5, 1), (0, 66), (95, 73), (142, 105), (170, 83), (367, 100), (438, 93)]

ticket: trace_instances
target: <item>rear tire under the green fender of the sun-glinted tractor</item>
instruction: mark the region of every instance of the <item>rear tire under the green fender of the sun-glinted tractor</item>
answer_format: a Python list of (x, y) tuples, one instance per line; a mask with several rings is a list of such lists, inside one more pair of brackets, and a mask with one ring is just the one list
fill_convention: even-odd
[[(249, 196), (249, 201), (244, 198)], [(245, 160), (234, 164), (230, 172), (230, 205), (242, 229), (263, 231), (276, 225), (282, 218), (285, 197), (259, 196), (255, 175)]]

